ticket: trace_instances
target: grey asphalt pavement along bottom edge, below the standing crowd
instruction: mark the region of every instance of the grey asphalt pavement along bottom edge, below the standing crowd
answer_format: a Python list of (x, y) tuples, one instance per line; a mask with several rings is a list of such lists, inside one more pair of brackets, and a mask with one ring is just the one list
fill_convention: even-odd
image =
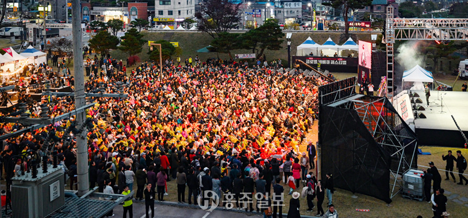
[[(150, 210), (151, 212), (151, 210)], [(114, 209), (115, 218), (121, 218), (123, 216), (123, 207), (118, 205)], [(145, 204), (144, 202), (133, 203), (133, 217), (134, 218), (145, 218)], [(151, 217), (151, 214), (150, 214)], [(195, 209), (191, 207), (176, 207), (160, 205), (155, 203), (155, 218), (262, 218), (260, 215), (245, 214), (242, 212), (231, 212), (231, 211), (204, 211), (200, 208)]]

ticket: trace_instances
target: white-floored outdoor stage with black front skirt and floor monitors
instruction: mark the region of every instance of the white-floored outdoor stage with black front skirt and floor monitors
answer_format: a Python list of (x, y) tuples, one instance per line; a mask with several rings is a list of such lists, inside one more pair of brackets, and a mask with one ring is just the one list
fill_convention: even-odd
[[(451, 91), (430, 91), (429, 107), (426, 105), (424, 91), (418, 93), (423, 103), (416, 103), (425, 108), (422, 112), (426, 119), (415, 119), (415, 129), (420, 145), (464, 147), (463, 139), (453, 118), (465, 135), (468, 136), (468, 93)], [(414, 98), (416, 100), (417, 98)], [(442, 106), (441, 106), (442, 105)]]

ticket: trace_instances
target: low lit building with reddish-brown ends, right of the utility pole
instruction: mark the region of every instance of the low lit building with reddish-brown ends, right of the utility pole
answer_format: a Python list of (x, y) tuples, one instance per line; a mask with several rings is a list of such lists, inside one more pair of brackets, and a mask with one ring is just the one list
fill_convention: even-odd
[(128, 2), (125, 7), (102, 7), (91, 6), (91, 3), (81, 3), (82, 20), (100, 20), (107, 22), (109, 20), (118, 19), (125, 23), (130, 23), (135, 19), (148, 19), (148, 3), (147, 2)]

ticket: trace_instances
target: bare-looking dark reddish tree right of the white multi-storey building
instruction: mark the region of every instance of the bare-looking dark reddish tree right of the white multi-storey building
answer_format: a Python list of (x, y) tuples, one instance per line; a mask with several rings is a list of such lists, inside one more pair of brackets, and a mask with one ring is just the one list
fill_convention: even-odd
[(240, 21), (240, 3), (232, 0), (207, 0), (201, 5), (200, 12), (195, 14), (198, 19), (198, 30), (208, 33), (211, 37), (237, 26)]

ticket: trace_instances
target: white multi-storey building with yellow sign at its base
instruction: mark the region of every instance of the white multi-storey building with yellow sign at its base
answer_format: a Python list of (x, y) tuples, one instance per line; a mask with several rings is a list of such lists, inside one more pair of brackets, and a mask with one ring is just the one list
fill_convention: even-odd
[(195, 17), (195, 0), (155, 0), (156, 25), (177, 28), (177, 24)]

